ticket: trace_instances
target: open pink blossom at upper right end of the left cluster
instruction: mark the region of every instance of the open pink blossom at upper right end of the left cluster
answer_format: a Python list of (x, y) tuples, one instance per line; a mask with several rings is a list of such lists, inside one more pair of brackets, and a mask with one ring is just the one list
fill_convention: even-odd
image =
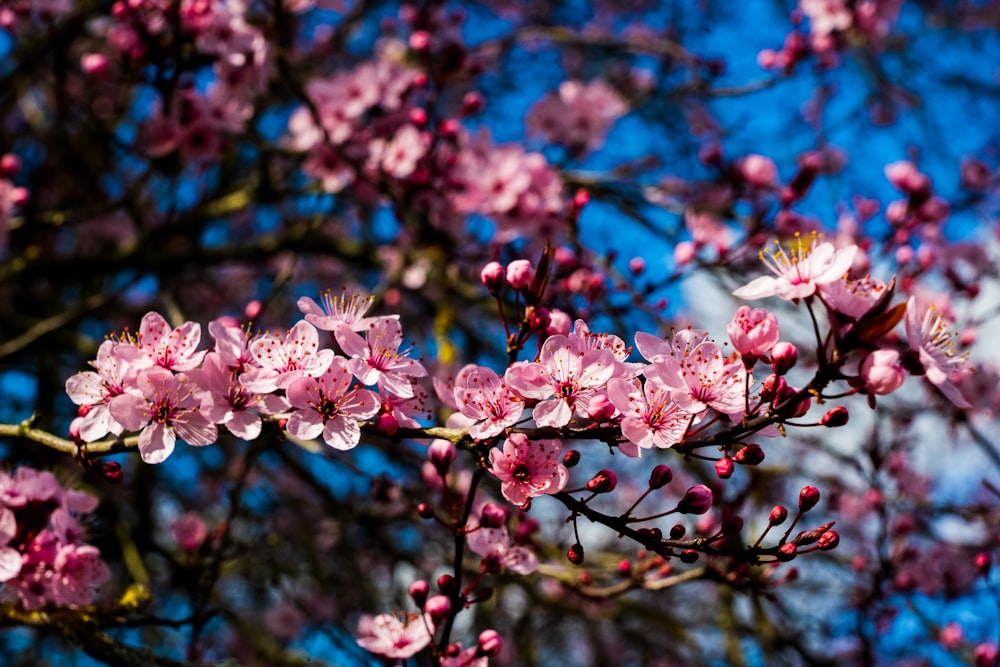
[(344, 353), (351, 357), (351, 371), (365, 385), (377, 384), (400, 398), (412, 398), (410, 378), (424, 377), (427, 370), (411, 359), (409, 350), (399, 351), (403, 330), (399, 320), (381, 317), (368, 328), (362, 338), (348, 326), (337, 327), (334, 335)]

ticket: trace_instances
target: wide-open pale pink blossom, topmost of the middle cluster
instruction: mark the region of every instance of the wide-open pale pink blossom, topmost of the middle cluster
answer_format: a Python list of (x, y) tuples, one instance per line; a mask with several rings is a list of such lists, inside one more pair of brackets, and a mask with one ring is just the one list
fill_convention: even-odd
[(615, 363), (609, 350), (587, 350), (577, 338), (556, 335), (542, 345), (537, 362), (514, 364), (504, 377), (521, 396), (542, 401), (532, 413), (536, 424), (559, 427), (574, 411), (586, 416), (590, 398), (614, 375)]

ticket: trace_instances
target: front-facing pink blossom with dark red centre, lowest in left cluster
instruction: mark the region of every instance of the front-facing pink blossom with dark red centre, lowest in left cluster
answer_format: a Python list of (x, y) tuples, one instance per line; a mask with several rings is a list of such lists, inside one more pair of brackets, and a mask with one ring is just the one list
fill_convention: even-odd
[(154, 366), (139, 372), (139, 393), (112, 399), (111, 415), (129, 431), (139, 433), (139, 453), (146, 463), (162, 463), (180, 436), (189, 445), (209, 445), (218, 430), (199, 411), (196, 386), (184, 374)]

